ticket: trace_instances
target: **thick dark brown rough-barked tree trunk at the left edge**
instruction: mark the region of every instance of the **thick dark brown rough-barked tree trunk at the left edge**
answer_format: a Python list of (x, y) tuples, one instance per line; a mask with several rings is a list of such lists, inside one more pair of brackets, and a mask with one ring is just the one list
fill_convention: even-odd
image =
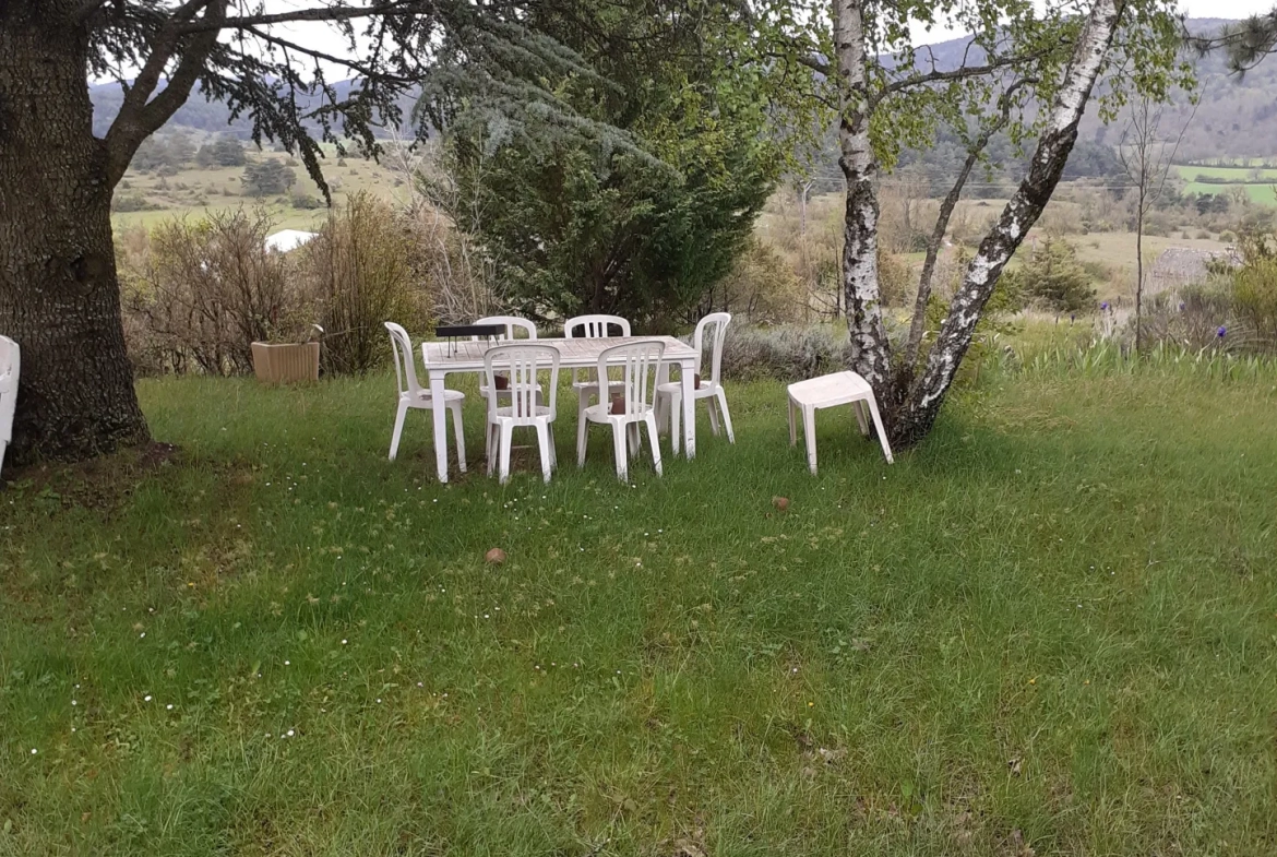
[(147, 439), (124, 347), (107, 148), (75, 0), (0, 4), (0, 333), (22, 347), (11, 453)]

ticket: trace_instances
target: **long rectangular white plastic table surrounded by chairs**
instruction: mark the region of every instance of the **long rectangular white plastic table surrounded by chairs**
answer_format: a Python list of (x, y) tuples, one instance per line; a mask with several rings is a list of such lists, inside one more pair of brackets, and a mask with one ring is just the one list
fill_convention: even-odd
[[(665, 344), (665, 359), (661, 365), (661, 374), (667, 374), (670, 365), (682, 369), (683, 383), (683, 448), (687, 457), (696, 457), (696, 400), (692, 396), (696, 375), (696, 351), (692, 346), (676, 340), (673, 336), (610, 336), (608, 338), (550, 338), (536, 340), (536, 345), (549, 345), (558, 349), (559, 367), (563, 369), (593, 369), (599, 365), (599, 354), (613, 345), (624, 345), (635, 340), (660, 340)], [(508, 345), (504, 342), (503, 345)], [(489, 342), (423, 342), (421, 359), (430, 375), (430, 397), (443, 401), (444, 378), (452, 373), (481, 373), (484, 370), (483, 358), (489, 347)], [(658, 377), (656, 383), (664, 383), (664, 378)], [(444, 407), (434, 407), (430, 414), (434, 418), (434, 464), (439, 474), (439, 482), (448, 482), (448, 442), (444, 424)]]

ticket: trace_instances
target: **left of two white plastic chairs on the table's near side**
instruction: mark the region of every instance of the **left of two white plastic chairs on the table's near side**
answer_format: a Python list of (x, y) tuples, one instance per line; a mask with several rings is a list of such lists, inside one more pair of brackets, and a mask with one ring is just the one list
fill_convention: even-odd
[[(536, 429), (536, 442), (541, 452), (541, 476), (550, 480), (550, 470), (558, 464), (554, 452), (554, 418), (558, 401), (559, 353), (549, 345), (499, 345), (483, 356), (488, 387), (497, 382), (497, 373), (510, 378), (510, 404), (499, 405), (497, 396), (488, 397), (488, 475), (492, 475), (494, 453), (501, 459), (501, 482), (510, 479), (510, 450), (513, 430), (522, 425)], [(550, 404), (541, 404), (539, 373), (549, 372)]]

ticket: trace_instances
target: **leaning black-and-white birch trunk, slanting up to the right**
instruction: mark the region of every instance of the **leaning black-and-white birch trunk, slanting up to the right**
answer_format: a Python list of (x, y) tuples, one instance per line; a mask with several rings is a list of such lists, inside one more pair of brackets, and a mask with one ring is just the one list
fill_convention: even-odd
[(954, 296), (940, 336), (927, 356), (926, 369), (909, 390), (908, 401), (890, 429), (893, 444), (917, 443), (935, 424), (945, 393), (971, 346), (985, 304), (997, 285), (997, 277), (1042, 215), (1060, 181), (1069, 152), (1078, 139), (1078, 123), (1091, 98), (1105, 55), (1112, 45), (1124, 5), (1115, 0), (1096, 0), (1091, 8), (1069, 60), (1064, 83), (1051, 102), (1046, 130), (1038, 139), (1029, 174), (1006, 203), (997, 224), (981, 241), (976, 258), (967, 268), (963, 285)]

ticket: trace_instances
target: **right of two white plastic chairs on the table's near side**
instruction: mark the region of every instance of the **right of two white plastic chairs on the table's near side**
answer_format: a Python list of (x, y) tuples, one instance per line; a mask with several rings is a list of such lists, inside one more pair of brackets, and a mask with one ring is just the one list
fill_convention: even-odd
[(665, 344), (660, 340), (638, 340), (614, 345), (599, 354), (599, 377), (608, 377), (608, 363), (624, 363), (621, 381), (612, 382), (613, 395), (619, 387), (619, 398), (624, 401), (624, 413), (613, 414), (612, 402), (604, 397), (598, 405), (591, 405), (581, 411), (581, 420), (576, 427), (576, 464), (585, 466), (585, 433), (590, 423), (607, 423), (612, 425), (612, 443), (617, 456), (617, 476), (622, 482), (627, 479), (626, 441), (630, 441), (630, 451), (637, 455), (641, 446), (638, 425), (647, 427), (647, 439), (651, 442), (651, 459), (656, 466), (656, 475), (661, 475), (660, 469), (660, 442), (656, 439), (656, 409), (653, 401), (656, 393), (656, 375), (660, 372), (661, 361), (665, 356)]

